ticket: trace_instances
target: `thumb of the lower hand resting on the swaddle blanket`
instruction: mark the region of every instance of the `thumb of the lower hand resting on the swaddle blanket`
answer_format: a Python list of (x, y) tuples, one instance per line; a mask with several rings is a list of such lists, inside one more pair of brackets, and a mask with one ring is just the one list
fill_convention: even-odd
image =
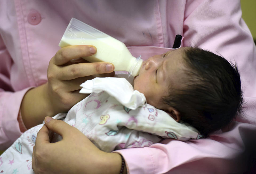
[(70, 129), (74, 129), (73, 126), (70, 126), (66, 122), (53, 119), (52, 117), (45, 117), (45, 125), (49, 130), (61, 135), (63, 139), (69, 135)]

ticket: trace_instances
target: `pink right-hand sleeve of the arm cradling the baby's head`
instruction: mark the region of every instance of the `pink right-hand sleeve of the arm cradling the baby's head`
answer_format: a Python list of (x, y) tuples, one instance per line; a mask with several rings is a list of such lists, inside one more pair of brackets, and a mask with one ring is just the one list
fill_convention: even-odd
[[(171, 9), (171, 7), (167, 7)], [(187, 1), (184, 46), (198, 46), (236, 61), (247, 108), (228, 130), (209, 138), (181, 142), (163, 140), (150, 147), (118, 150), (129, 173), (242, 173), (256, 132), (256, 51), (241, 18), (240, 1)]]

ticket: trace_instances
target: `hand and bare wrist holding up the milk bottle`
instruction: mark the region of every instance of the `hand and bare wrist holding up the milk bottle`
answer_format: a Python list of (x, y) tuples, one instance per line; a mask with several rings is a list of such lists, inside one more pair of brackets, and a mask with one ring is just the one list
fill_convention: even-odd
[(97, 49), (91, 45), (74, 45), (59, 49), (47, 69), (48, 82), (29, 90), (21, 103), (21, 115), (29, 129), (41, 124), (45, 116), (67, 112), (85, 98), (80, 84), (94, 77), (114, 76), (114, 65), (89, 63), (81, 57), (91, 56)]

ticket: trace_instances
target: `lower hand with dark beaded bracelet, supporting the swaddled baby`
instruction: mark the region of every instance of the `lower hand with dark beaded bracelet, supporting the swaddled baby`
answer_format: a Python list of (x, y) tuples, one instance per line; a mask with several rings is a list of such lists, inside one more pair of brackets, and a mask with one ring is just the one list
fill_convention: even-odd
[[(50, 143), (51, 131), (63, 139)], [(38, 131), (32, 158), (36, 174), (119, 173), (121, 163), (119, 154), (99, 150), (78, 129), (51, 117), (45, 118), (45, 125)]]

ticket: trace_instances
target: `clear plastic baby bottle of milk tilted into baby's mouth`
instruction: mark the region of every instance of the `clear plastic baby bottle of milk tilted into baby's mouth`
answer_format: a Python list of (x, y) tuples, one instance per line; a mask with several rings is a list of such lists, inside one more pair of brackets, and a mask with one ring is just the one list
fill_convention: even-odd
[(89, 62), (113, 63), (114, 71), (128, 71), (129, 76), (135, 77), (139, 74), (141, 56), (133, 57), (124, 43), (75, 18), (70, 20), (59, 42), (59, 47), (68, 45), (94, 45), (97, 53), (83, 59)]

